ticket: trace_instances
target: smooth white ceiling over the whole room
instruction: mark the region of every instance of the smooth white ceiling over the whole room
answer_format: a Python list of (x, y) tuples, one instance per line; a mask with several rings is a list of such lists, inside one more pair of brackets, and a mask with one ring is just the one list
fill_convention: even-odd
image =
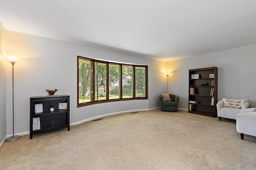
[(0, 21), (162, 61), (256, 44), (256, 0), (0, 0)]

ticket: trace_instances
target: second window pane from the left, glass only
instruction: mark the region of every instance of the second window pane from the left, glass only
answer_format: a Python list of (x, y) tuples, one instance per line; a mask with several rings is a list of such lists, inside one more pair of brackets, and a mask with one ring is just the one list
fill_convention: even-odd
[(95, 100), (106, 100), (106, 64), (95, 62)]

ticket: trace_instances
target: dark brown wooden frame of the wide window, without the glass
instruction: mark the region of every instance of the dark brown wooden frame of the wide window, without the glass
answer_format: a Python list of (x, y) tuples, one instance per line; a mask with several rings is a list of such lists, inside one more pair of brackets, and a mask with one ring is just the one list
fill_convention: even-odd
[[(90, 102), (80, 103), (79, 104), (79, 59), (84, 59), (90, 61)], [(106, 100), (95, 100), (95, 63), (106, 63)], [(119, 98), (118, 99), (109, 99), (109, 64), (115, 64), (119, 66)], [(122, 66), (132, 66), (132, 98), (122, 98)], [(145, 68), (145, 92), (146, 95), (143, 97), (139, 96), (136, 97), (136, 79), (135, 79), (135, 68), (136, 67), (143, 67)], [(100, 104), (106, 102), (116, 102), (116, 101), (125, 101), (125, 100), (148, 100), (148, 66), (147, 65), (140, 65), (140, 64), (123, 64), (118, 62), (109, 62), (104, 60), (92, 59), (88, 57), (77, 56), (77, 107), (88, 106), (92, 104)]]

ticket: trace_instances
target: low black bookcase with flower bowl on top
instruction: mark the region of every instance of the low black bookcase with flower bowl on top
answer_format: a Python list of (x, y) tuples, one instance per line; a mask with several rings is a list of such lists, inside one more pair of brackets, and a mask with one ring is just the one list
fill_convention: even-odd
[[(35, 133), (60, 128), (68, 128), (68, 131), (70, 130), (69, 97), (68, 95), (61, 95), (30, 98), (30, 139), (32, 139)], [(59, 103), (66, 103), (67, 109), (58, 109)], [(42, 104), (43, 110), (41, 113), (36, 113), (36, 104)], [(50, 112), (50, 107), (54, 107), (54, 111)]]

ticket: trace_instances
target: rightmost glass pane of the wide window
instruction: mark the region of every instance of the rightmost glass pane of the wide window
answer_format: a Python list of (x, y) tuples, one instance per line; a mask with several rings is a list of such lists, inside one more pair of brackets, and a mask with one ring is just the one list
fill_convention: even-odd
[(146, 97), (146, 67), (135, 67), (135, 97)]

